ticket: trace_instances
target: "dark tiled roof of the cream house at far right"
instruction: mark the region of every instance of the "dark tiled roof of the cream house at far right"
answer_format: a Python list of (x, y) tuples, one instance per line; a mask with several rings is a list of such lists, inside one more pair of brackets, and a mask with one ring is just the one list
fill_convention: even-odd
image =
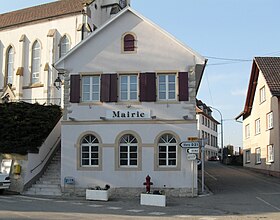
[(280, 57), (255, 57), (255, 61), (264, 75), (271, 94), (280, 96)]

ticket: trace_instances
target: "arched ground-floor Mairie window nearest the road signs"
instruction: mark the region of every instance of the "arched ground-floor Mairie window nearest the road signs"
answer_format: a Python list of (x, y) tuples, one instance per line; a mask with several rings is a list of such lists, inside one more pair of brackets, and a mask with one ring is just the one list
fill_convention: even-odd
[(177, 141), (171, 134), (164, 134), (158, 143), (159, 166), (174, 167), (177, 165)]

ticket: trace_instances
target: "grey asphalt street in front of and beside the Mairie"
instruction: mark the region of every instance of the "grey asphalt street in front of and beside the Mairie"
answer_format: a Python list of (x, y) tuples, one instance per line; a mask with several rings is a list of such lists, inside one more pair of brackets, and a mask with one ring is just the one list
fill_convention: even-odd
[(280, 180), (242, 167), (206, 164), (212, 193), (167, 198), (167, 207), (141, 206), (138, 198), (108, 202), (84, 198), (0, 196), (0, 219), (279, 219)]

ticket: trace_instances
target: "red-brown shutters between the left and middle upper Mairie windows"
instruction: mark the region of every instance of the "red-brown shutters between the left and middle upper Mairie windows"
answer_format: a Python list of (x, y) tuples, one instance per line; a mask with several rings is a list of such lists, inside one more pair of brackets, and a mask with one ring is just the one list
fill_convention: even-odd
[(101, 75), (101, 102), (117, 102), (117, 74)]

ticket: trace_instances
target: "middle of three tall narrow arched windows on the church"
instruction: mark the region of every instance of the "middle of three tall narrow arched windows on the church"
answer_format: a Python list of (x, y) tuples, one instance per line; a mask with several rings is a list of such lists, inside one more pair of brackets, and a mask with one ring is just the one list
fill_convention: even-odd
[(32, 84), (39, 82), (41, 65), (41, 45), (39, 41), (35, 41), (32, 46), (32, 63), (31, 63), (31, 82)]

